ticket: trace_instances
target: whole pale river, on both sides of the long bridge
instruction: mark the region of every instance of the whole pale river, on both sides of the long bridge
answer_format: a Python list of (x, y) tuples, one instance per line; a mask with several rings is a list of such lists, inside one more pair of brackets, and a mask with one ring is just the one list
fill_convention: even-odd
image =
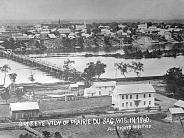
[[(183, 46), (183, 45), (182, 45)], [(154, 46), (155, 48), (158, 48)], [(163, 49), (170, 49), (173, 45), (163, 46)], [(176, 45), (174, 45), (176, 47)], [(116, 51), (117, 53), (123, 53), (120, 49)], [(114, 52), (114, 53), (116, 53)], [(93, 54), (105, 54), (105, 52), (98, 52)], [(112, 53), (112, 52), (110, 52)], [(164, 75), (169, 68), (172, 67), (184, 67), (184, 56), (173, 57), (162, 57), (162, 58), (153, 58), (153, 59), (121, 59), (114, 57), (84, 57), (82, 55), (86, 54), (86, 52), (82, 53), (70, 53), (70, 54), (62, 54), (59, 57), (42, 57), (37, 58), (38, 60), (43, 60), (49, 62), (51, 64), (55, 64), (57, 66), (62, 66), (64, 61), (67, 59), (74, 60), (75, 63), (73, 67), (75, 67), (78, 71), (83, 72), (84, 68), (86, 68), (86, 64), (89, 62), (96, 62), (100, 60), (102, 63), (105, 63), (107, 67), (105, 68), (105, 73), (101, 75), (101, 78), (122, 78), (121, 72), (116, 70), (114, 67), (115, 63), (131, 63), (132, 61), (139, 61), (144, 64), (144, 71), (141, 73), (141, 76), (160, 76)], [(61, 55), (61, 53), (60, 53)], [(31, 57), (40, 57), (39, 55), (31, 55)], [(8, 59), (0, 58), (0, 66), (4, 64), (8, 64), (12, 69), (8, 73), (17, 73), (16, 83), (31, 83), (28, 79), (31, 72), (34, 74), (35, 82), (38, 83), (55, 83), (60, 82), (61, 80), (54, 78), (53, 76), (49, 76), (48, 74), (38, 70), (37, 68), (28, 67), (23, 64), (17, 63), (15, 61), (11, 61)], [(127, 77), (136, 77), (134, 72), (128, 72), (126, 74)], [(0, 72), (0, 84), (3, 84), (4, 74)], [(7, 77), (8, 79), (8, 77)], [(8, 80), (7, 80), (8, 82)]]

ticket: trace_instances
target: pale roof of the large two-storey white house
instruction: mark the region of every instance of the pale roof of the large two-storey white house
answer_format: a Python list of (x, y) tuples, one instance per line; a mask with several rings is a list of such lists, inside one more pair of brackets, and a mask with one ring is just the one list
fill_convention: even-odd
[(114, 92), (116, 94), (154, 93), (155, 89), (151, 84), (129, 84), (116, 86)]

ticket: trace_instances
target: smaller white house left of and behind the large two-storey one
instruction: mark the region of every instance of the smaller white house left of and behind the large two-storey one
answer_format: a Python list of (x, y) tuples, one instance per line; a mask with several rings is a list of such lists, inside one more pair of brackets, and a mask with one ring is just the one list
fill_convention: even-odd
[(90, 88), (84, 90), (84, 97), (112, 95), (115, 86), (115, 81), (94, 82)]

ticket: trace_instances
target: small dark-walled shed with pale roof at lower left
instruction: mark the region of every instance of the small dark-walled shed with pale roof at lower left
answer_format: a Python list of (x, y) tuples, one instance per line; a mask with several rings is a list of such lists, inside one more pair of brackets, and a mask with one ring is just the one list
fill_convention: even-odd
[(9, 109), (10, 118), (13, 120), (39, 117), (39, 105), (37, 102), (10, 103)]

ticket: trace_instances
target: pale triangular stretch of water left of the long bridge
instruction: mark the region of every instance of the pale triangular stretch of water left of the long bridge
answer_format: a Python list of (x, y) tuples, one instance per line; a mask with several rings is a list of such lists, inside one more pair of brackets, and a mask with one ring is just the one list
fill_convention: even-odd
[[(17, 63), (12, 60), (0, 58), (0, 66), (3, 66), (4, 64), (8, 64), (11, 68), (11, 70), (8, 72), (10, 73), (17, 73), (17, 79), (16, 83), (31, 83), (29, 80), (31, 72), (34, 74), (35, 82), (38, 83), (54, 83), (59, 82), (59, 79), (54, 78), (53, 76), (48, 76), (46, 73), (37, 70), (34, 67), (28, 67), (23, 64)], [(6, 77), (6, 82), (10, 82), (9, 77)], [(0, 72), (0, 85), (3, 84), (4, 79), (4, 73)]]

